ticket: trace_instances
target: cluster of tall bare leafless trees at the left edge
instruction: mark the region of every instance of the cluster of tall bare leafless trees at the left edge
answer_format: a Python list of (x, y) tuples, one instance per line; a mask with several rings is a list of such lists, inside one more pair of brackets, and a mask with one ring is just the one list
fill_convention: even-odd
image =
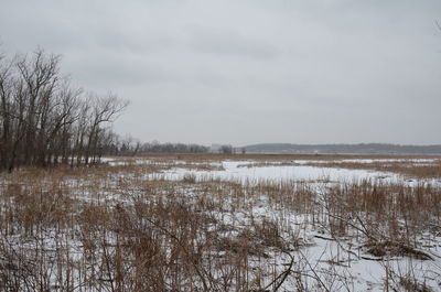
[(115, 145), (111, 122), (127, 106), (74, 87), (60, 57), (0, 55), (0, 169), (88, 164)]

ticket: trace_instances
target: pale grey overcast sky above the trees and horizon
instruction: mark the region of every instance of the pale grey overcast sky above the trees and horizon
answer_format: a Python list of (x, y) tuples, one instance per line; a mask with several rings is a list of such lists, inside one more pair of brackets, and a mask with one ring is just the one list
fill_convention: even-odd
[(440, 0), (0, 0), (143, 141), (441, 143)]

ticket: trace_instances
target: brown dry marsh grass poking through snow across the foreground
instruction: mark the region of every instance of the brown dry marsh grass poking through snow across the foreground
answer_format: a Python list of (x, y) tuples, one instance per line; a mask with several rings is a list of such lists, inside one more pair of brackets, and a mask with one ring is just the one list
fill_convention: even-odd
[(420, 259), (421, 241), (441, 232), (441, 191), (427, 184), (146, 177), (176, 160), (209, 170), (228, 158), (157, 155), (153, 163), (2, 173), (0, 286), (338, 291), (351, 278), (311, 269), (302, 256), (308, 230), (342, 246), (357, 240), (377, 257)]

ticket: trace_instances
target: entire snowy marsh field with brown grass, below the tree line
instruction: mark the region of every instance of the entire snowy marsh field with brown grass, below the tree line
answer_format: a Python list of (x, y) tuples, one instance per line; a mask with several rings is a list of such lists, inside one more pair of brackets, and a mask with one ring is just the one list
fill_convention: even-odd
[(0, 291), (441, 291), (441, 156), (2, 172)]

